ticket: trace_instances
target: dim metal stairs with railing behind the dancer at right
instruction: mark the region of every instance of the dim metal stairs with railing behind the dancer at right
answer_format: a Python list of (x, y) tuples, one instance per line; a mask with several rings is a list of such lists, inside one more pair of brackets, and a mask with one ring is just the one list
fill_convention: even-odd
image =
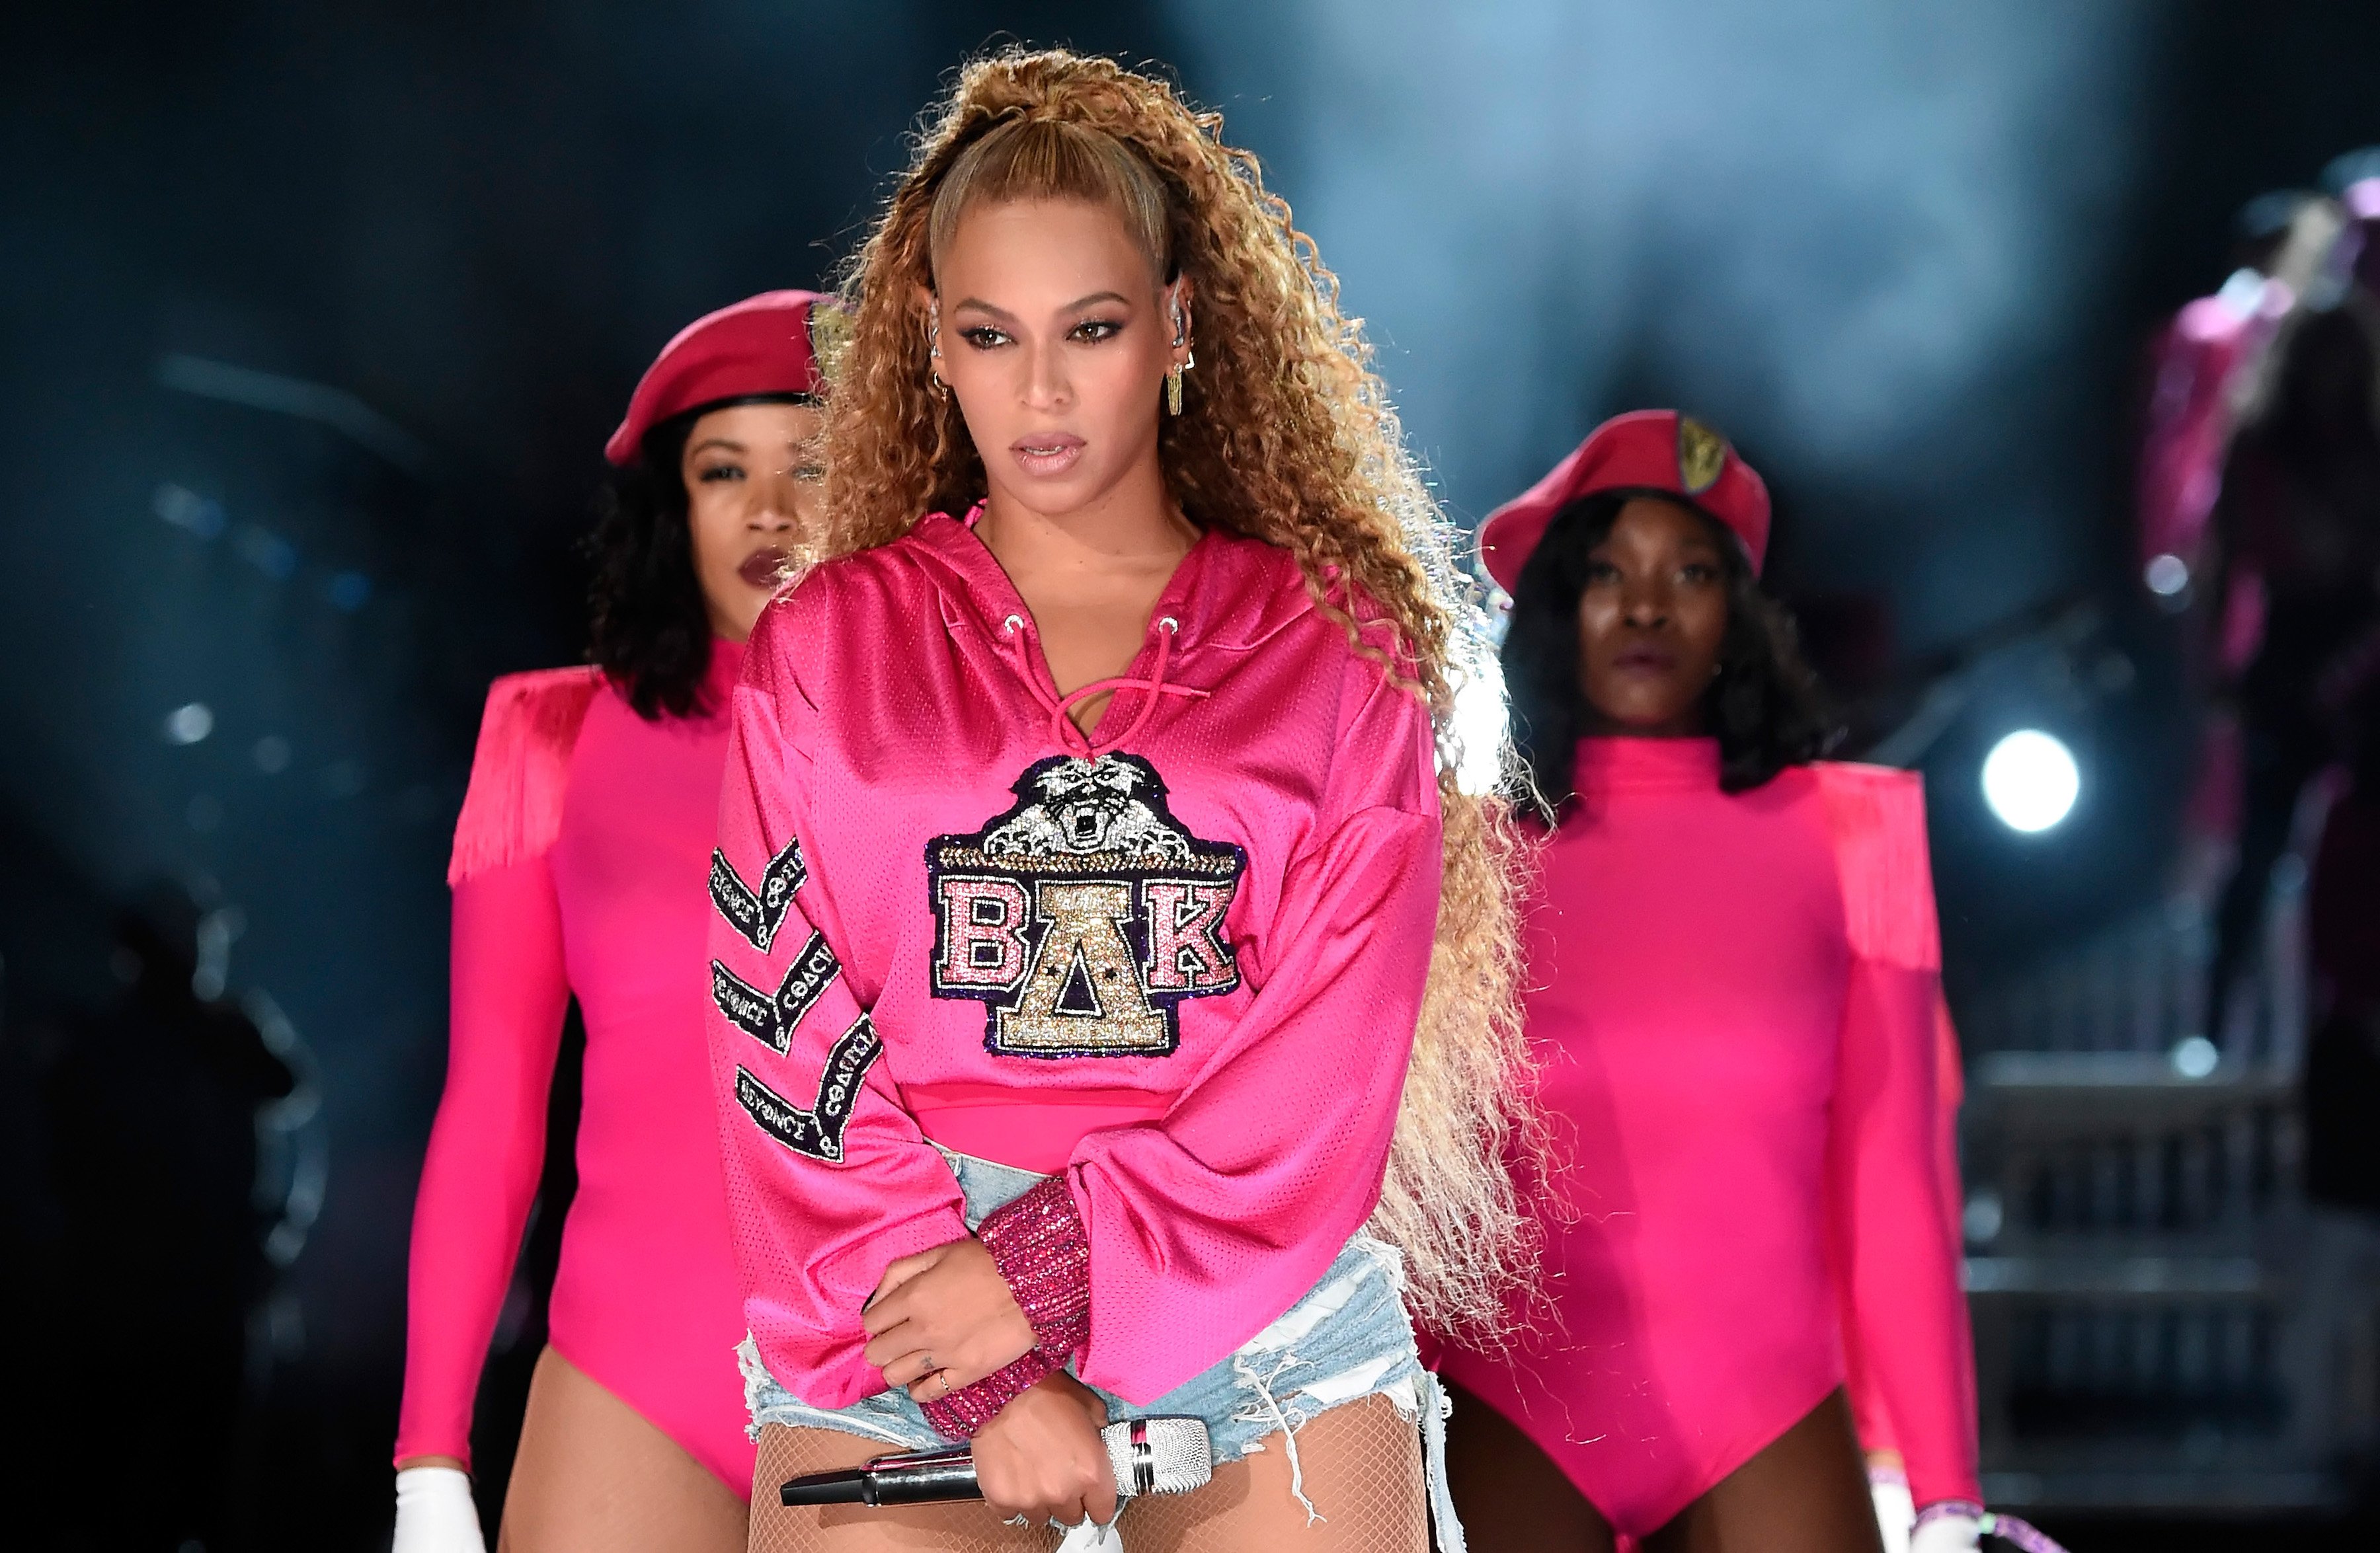
[(2380, 1237), (2301, 1192), (2301, 880), (2278, 880), (2221, 1044), (2197, 1030), (2206, 932), (2187, 908), (2009, 985), (1964, 1027), (1994, 1505), (2337, 1510), (2373, 1460)]

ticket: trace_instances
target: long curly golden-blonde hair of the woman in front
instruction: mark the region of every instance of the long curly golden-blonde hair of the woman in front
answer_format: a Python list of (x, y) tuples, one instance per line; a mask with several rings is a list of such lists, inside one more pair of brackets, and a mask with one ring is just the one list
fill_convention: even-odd
[[(1495, 1341), (1535, 1263), (1504, 1151), (1530, 1144), (1528, 1044), (1514, 1001), (1516, 840), (1502, 809), (1454, 782), (1454, 690), (1492, 659), (1454, 528), (1404, 452), (1338, 278), (1264, 190), (1257, 159), (1221, 140), (1161, 81), (1064, 50), (976, 59), (919, 136), (907, 176), (843, 278), (847, 338), (826, 388), (823, 554), (904, 535), (985, 490), (966, 421), (933, 390), (935, 250), (983, 200), (1073, 197), (1114, 207), (1159, 281), (1188, 273), (1197, 369), (1159, 459), (1197, 523), (1297, 557), (1307, 587), (1433, 713), (1445, 885), (1388, 1182), (1371, 1230), (1404, 1251), (1414, 1315)], [(1390, 618), (1395, 654), (1357, 635), (1340, 602)]]

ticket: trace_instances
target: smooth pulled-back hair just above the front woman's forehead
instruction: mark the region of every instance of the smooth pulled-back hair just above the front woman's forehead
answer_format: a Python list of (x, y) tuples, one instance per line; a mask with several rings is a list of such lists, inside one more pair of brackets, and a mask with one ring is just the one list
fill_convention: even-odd
[(1173, 276), (1166, 190), (1128, 145), (1083, 124), (1009, 119), (959, 152), (926, 216), (926, 252), (940, 281), (959, 216), (1012, 200), (1085, 200), (1123, 216), (1157, 283)]

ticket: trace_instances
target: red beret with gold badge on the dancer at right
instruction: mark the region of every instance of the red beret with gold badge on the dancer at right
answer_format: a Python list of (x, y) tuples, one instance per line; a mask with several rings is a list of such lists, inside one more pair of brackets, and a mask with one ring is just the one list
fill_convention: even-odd
[(1768, 488), (1728, 440), (1676, 409), (1630, 409), (1480, 523), (1480, 559), (1497, 587), (1511, 592), (1554, 514), (1597, 490), (1661, 492), (1709, 514), (1745, 542), (1754, 573), (1768, 554)]

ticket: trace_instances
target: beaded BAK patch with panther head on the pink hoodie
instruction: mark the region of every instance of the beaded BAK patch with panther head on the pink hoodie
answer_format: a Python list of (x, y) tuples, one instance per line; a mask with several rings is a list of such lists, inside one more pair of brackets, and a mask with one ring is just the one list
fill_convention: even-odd
[(1002, 1056), (1166, 1056), (1183, 999), (1240, 985), (1223, 913), (1247, 854), (1202, 842), (1138, 754), (1052, 756), (1004, 813), (926, 842), (933, 996)]

